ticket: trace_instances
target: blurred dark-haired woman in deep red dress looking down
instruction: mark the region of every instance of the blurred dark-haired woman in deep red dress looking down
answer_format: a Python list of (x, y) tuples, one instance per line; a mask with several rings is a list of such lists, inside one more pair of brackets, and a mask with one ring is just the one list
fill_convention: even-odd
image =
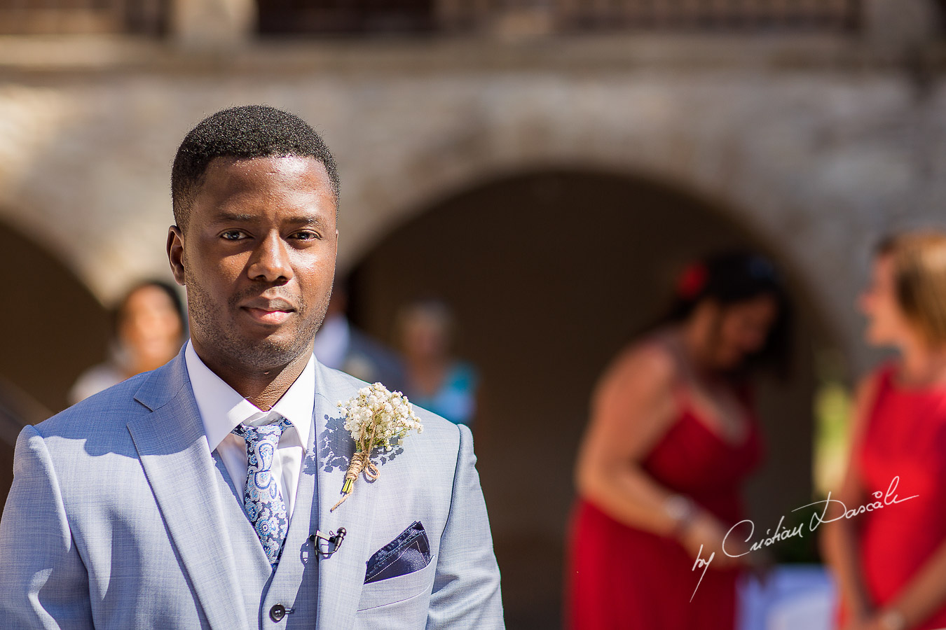
[(721, 255), (689, 267), (666, 325), (604, 372), (576, 468), (572, 630), (732, 630), (738, 571), (759, 557), (722, 551), (762, 457), (747, 380), (783, 359), (786, 327), (772, 264)]

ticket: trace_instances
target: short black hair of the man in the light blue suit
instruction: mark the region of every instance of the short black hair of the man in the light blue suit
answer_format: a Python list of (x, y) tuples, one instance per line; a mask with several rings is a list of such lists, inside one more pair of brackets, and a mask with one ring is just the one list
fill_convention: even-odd
[(207, 116), (191, 129), (178, 147), (171, 168), (171, 205), (182, 230), (191, 203), (215, 158), (314, 158), (322, 162), (332, 184), (336, 210), (339, 171), (322, 137), (306, 121), (268, 105), (242, 105)]

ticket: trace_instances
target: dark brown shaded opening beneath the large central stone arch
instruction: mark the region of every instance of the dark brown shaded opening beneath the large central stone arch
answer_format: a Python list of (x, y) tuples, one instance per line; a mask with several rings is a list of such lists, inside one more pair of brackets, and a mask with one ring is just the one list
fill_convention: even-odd
[[(354, 267), (353, 319), (378, 337), (404, 298), (455, 309), (458, 354), (481, 371), (474, 435), (511, 628), (557, 625), (571, 468), (598, 374), (659, 315), (682, 264), (722, 247), (762, 250), (797, 279), (783, 252), (705, 199), (613, 172), (539, 169), (430, 203)], [(812, 352), (828, 332), (807, 289), (792, 289), (796, 369), (761, 391), (779, 448), (749, 491), (760, 522), (811, 493)]]

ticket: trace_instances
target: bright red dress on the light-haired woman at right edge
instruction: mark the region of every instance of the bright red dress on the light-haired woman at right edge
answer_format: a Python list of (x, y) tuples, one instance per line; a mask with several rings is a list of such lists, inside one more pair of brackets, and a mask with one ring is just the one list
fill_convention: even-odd
[[(859, 528), (861, 570), (875, 606), (894, 600), (946, 541), (946, 386), (911, 389), (895, 381), (896, 367), (880, 369), (855, 466), (869, 494), (880, 501), (899, 477), (900, 500), (850, 519)], [(877, 501), (874, 497), (865, 499)], [(856, 509), (857, 505), (847, 505)], [(946, 626), (946, 603), (910, 630)]]

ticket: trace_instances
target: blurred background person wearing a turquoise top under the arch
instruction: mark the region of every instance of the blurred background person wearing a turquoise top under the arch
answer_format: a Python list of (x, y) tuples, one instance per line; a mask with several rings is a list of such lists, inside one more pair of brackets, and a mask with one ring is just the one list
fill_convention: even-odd
[(404, 393), (413, 404), (469, 426), (476, 413), (477, 374), (453, 356), (453, 315), (439, 300), (403, 306), (397, 346), (404, 357)]

